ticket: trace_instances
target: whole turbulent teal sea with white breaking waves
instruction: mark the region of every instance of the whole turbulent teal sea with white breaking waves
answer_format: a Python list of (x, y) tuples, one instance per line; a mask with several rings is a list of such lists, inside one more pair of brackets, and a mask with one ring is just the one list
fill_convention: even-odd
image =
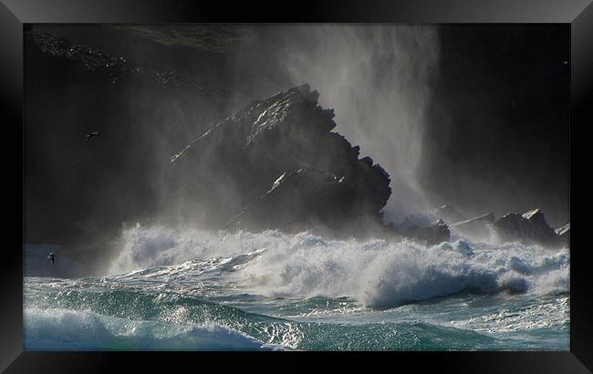
[(106, 276), (25, 260), (27, 350), (569, 349), (567, 249), (136, 225)]

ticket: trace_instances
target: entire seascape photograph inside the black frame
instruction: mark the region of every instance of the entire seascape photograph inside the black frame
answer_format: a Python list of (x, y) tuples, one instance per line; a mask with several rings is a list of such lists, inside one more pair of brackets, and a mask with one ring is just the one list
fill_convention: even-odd
[(25, 351), (570, 351), (570, 24), (22, 37)]

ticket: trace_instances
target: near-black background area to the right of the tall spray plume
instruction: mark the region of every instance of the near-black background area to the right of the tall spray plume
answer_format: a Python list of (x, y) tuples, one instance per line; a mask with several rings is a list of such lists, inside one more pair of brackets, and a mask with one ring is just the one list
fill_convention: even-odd
[(568, 221), (569, 29), (441, 26), (421, 182), (468, 213)]

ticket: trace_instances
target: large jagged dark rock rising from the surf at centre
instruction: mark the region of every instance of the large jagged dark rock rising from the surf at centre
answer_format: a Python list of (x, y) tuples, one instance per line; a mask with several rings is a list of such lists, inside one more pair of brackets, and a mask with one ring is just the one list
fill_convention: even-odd
[[(390, 177), (336, 132), (308, 85), (255, 101), (172, 157), (173, 195), (213, 226), (332, 229), (379, 217)], [(199, 209), (200, 212), (194, 212)], [(366, 218), (365, 218), (366, 219)]]

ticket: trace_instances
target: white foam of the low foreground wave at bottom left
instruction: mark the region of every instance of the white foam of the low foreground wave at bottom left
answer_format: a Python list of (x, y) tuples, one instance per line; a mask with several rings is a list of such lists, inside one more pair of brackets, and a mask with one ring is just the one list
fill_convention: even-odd
[(133, 321), (91, 311), (26, 308), (28, 350), (259, 350), (276, 349), (222, 325)]

